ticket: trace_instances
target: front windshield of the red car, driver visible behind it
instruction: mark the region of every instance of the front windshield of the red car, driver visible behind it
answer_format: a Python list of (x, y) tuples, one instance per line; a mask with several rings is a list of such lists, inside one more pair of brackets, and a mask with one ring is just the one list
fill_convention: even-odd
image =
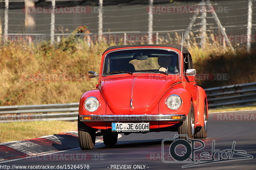
[(105, 57), (103, 75), (137, 72), (178, 74), (178, 54), (161, 49), (129, 49), (115, 51)]

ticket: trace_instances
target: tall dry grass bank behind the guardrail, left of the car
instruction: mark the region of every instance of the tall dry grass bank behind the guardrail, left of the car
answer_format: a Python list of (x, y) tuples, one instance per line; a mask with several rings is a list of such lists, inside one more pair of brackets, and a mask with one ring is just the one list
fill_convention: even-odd
[[(88, 70), (99, 70), (101, 52), (107, 46), (87, 48), (85, 43), (77, 43), (75, 48), (63, 51), (26, 44), (0, 47), (0, 105), (78, 102), (83, 92), (95, 88), (96, 79), (86, 76), (78, 81), (37, 81), (32, 77), (87, 75)], [(28, 75), (30, 78), (26, 79)]]

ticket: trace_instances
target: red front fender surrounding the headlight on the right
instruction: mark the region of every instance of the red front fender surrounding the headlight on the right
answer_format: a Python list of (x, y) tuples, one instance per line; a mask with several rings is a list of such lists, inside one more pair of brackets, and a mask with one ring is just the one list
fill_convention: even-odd
[[(177, 110), (169, 109), (166, 105), (167, 98), (176, 94), (181, 98), (181, 105)], [(188, 115), (190, 110), (191, 94), (188, 90), (183, 88), (170, 88), (165, 92), (161, 100), (159, 101), (158, 114), (184, 114)]]

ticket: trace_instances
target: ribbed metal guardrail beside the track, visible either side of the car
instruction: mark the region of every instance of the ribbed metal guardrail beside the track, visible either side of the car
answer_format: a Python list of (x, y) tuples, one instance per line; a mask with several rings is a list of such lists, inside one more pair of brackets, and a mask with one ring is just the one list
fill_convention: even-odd
[[(256, 105), (256, 82), (204, 90), (212, 109)], [(79, 103), (4, 106), (0, 107), (0, 122), (75, 121), (78, 106)]]

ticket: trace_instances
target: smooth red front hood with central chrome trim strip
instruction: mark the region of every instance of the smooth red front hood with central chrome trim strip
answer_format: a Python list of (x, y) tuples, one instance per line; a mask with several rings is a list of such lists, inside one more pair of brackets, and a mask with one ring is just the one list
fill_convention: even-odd
[(177, 81), (175, 76), (131, 75), (104, 79), (100, 89), (113, 114), (158, 114), (159, 100)]

